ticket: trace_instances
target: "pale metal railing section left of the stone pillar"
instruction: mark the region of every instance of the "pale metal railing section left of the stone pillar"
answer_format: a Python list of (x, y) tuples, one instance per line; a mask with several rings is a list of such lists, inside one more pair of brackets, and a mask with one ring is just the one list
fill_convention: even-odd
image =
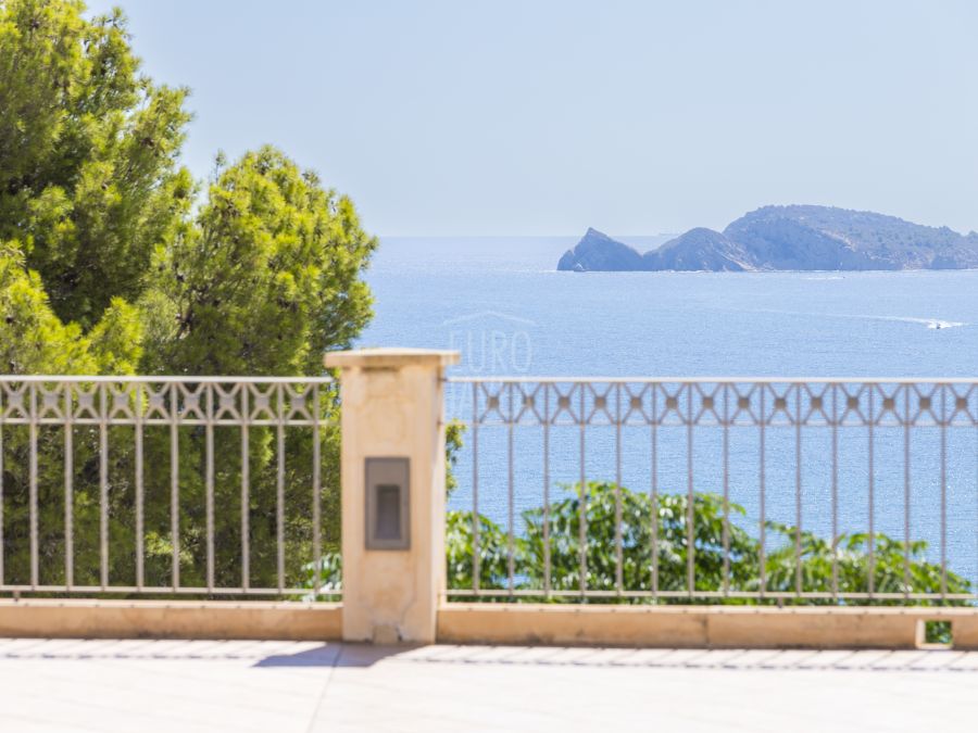
[(338, 596), (336, 416), (328, 378), (0, 377), (0, 593)]

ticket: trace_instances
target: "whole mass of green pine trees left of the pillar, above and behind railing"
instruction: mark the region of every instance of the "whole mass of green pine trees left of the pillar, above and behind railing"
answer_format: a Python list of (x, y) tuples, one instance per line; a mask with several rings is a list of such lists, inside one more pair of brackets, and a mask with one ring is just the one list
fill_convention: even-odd
[[(376, 248), (352, 202), (283, 152), (222, 163), (208, 186), (178, 163), (188, 91), (140, 71), (120, 11), (87, 18), (78, 0), (0, 0), (0, 358), (17, 374), (255, 375), (322, 372), (371, 317), (362, 273)], [(223, 157), (222, 157), (223, 160)], [(273, 399), (274, 404), (274, 399)], [(336, 409), (322, 390), (319, 407)], [(234, 433), (234, 434), (231, 434)], [(218, 583), (240, 568), (240, 435), (215, 434)], [(254, 585), (274, 586), (276, 435), (251, 430)], [(323, 528), (338, 540), (338, 434), (321, 431)], [(180, 428), (180, 546), (200, 584), (204, 438)], [(312, 431), (286, 438), (287, 582), (309, 557)], [(110, 581), (131, 581), (133, 432), (110, 431)], [(170, 582), (168, 438), (147, 428), (147, 583)], [(3, 542), (9, 582), (27, 582), (26, 428), (3, 428)], [(74, 429), (76, 584), (98, 584), (98, 435)], [(38, 435), (41, 580), (60, 583), (63, 431)], [(164, 467), (162, 470), (160, 467)], [(267, 549), (271, 546), (271, 552)], [(95, 553), (95, 554), (92, 554)], [(48, 561), (50, 560), (50, 561)]]

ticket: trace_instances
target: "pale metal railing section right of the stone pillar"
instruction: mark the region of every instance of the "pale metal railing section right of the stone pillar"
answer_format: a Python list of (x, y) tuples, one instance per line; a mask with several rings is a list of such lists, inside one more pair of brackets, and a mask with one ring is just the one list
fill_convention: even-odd
[(453, 378), (446, 400), (450, 597), (978, 598), (975, 380)]

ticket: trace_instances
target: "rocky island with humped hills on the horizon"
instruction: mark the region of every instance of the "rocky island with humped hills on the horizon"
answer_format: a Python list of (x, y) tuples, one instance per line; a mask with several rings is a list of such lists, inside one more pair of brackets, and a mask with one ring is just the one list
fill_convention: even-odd
[(967, 269), (978, 268), (978, 233), (832, 206), (764, 206), (723, 231), (690, 229), (650, 252), (588, 229), (560, 270)]

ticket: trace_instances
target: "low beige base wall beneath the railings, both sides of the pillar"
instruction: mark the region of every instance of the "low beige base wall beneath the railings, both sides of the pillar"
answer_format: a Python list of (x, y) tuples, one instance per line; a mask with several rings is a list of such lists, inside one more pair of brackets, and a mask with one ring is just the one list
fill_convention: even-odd
[[(892, 648), (920, 623), (950, 620), (954, 648), (978, 649), (978, 609), (753, 608), (444, 604), (435, 641), (451, 644), (667, 648)], [(0, 601), (0, 636), (338, 641), (341, 604)]]

